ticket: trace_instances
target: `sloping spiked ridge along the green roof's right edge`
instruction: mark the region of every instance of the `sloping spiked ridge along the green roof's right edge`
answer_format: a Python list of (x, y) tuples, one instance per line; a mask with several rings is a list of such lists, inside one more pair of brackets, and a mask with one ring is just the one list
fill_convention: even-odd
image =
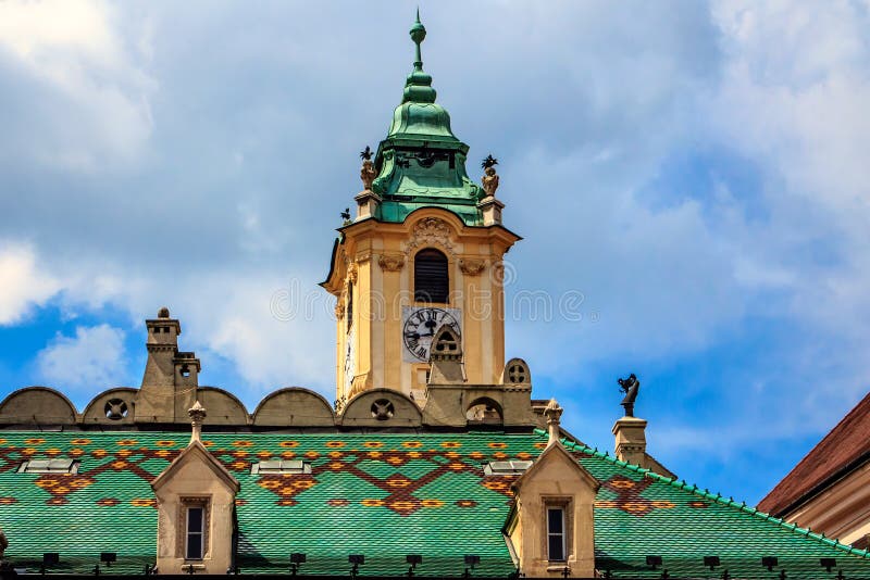
[[(540, 429), (535, 429), (535, 433), (536, 434), (546, 434)], [(694, 493), (695, 495), (698, 495), (698, 496), (704, 497), (706, 500), (716, 502), (716, 503), (721, 504), (721, 505), (725, 505), (725, 506), (729, 506), (729, 507), (733, 507), (733, 508), (739, 509), (741, 512), (749, 514), (750, 516), (754, 516), (754, 517), (770, 521), (772, 524), (776, 524), (780, 527), (785, 528), (786, 530), (790, 530), (790, 531), (792, 531), (792, 532), (794, 532), (796, 534), (804, 535), (806, 538), (812, 538), (813, 540), (817, 540), (817, 541), (819, 541), (819, 542), (821, 542), (823, 544), (828, 544), (828, 545), (830, 545), (830, 546), (832, 546), (834, 549), (841, 550), (841, 551), (846, 552), (848, 554), (853, 554), (855, 556), (860, 556), (860, 557), (870, 559), (870, 550), (860, 550), (860, 549), (857, 549), (857, 547), (853, 547), (853, 546), (850, 546), (848, 544), (844, 544), (844, 543), (840, 542), (838, 540), (832, 540), (831, 538), (826, 538), (824, 535), (824, 533), (813, 532), (809, 528), (799, 527), (797, 524), (788, 524), (782, 518), (778, 518), (778, 517), (771, 516), (770, 514), (766, 514), (763, 512), (760, 512), (758, 508), (748, 505), (746, 502), (737, 503), (733, 497), (725, 497), (724, 495), (722, 495), (720, 493), (713, 494), (713, 493), (710, 493), (709, 490), (706, 490), (706, 489), (704, 491), (701, 491), (698, 486), (696, 486), (694, 483), (686, 483), (685, 480), (683, 480), (682, 482), (678, 482), (675, 477), (674, 478), (670, 478), (670, 477), (661, 476), (661, 475), (656, 474), (655, 471), (652, 471), (650, 469), (646, 469), (644, 467), (641, 467), (639, 465), (631, 464), (629, 462), (623, 462), (623, 461), (618, 459), (617, 457), (608, 454), (608, 452), (606, 452), (606, 451), (604, 453), (601, 453), (600, 451), (598, 451), (597, 447), (593, 449), (593, 447), (591, 447), (588, 445), (581, 445), (581, 444), (574, 443), (573, 441), (569, 441), (567, 439), (560, 439), (560, 441), (566, 447), (571, 449), (573, 451), (581, 451), (583, 453), (587, 453), (587, 454), (589, 454), (589, 455), (592, 455), (594, 457), (597, 457), (599, 459), (605, 459), (607, 462), (610, 462), (610, 463), (612, 463), (613, 465), (616, 465), (618, 467), (623, 467), (625, 469), (629, 469), (630, 471), (638, 472), (638, 474), (643, 475), (644, 477), (649, 477), (650, 479), (655, 479), (657, 481), (661, 481), (663, 483), (668, 483), (669, 486), (672, 486), (672, 487), (674, 487), (676, 489), (680, 489), (680, 490), (688, 491), (688, 492)]]

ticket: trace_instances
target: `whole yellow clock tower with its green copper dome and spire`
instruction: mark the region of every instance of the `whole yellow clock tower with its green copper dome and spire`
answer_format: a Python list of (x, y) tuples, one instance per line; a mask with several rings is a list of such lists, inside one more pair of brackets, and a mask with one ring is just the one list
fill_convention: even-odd
[(413, 71), (386, 138), (361, 153), (356, 217), (339, 228), (322, 283), (337, 300), (338, 407), (381, 388), (423, 406), (442, 336), (462, 353), (453, 382), (505, 375), (502, 257), (520, 237), (501, 225), (496, 160), (484, 161), (481, 186), (468, 176), (469, 146), (423, 72), (419, 14), (410, 34)]

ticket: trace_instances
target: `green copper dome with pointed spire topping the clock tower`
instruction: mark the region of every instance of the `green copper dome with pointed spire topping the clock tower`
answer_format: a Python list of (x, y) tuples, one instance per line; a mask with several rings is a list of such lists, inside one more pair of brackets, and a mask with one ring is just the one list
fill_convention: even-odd
[(469, 147), (453, 135), (450, 114), (435, 102), (432, 76), (423, 72), (420, 45), (426, 28), (419, 12), (410, 35), (417, 45), (417, 60), (375, 155), (378, 175), (372, 189), (383, 200), (375, 217), (402, 222), (419, 207), (437, 206), (456, 213), (468, 225), (482, 225), (477, 202), (484, 193), (465, 172)]

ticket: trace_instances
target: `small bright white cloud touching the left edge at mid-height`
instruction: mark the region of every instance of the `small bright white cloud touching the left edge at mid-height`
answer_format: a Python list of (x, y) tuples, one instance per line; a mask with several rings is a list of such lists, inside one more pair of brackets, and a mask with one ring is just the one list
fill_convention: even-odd
[(60, 290), (59, 282), (37, 266), (33, 249), (25, 245), (0, 245), (0, 325), (20, 323)]

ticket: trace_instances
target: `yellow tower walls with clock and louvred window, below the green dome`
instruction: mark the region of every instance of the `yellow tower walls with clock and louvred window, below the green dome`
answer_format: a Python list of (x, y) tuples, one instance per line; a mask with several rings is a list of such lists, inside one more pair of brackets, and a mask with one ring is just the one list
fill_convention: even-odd
[[(439, 207), (417, 210), (400, 224), (358, 219), (341, 234), (324, 285), (337, 298), (338, 401), (378, 388), (422, 401), (432, 340), (443, 325), (462, 343), (468, 383), (501, 381), (501, 261), (515, 235), (498, 225), (467, 226)], [(420, 288), (437, 265), (435, 252), (444, 256), (446, 300)]]

